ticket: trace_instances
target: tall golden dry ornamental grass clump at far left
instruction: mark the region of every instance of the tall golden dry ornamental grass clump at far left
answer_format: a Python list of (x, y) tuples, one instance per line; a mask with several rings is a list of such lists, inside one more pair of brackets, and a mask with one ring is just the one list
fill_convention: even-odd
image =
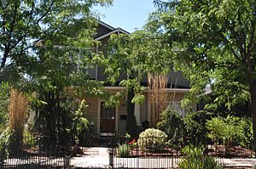
[(26, 121), (28, 99), (24, 93), (12, 89), (9, 102), (9, 129), (13, 132), (12, 143), (15, 149), (23, 144), (23, 132)]

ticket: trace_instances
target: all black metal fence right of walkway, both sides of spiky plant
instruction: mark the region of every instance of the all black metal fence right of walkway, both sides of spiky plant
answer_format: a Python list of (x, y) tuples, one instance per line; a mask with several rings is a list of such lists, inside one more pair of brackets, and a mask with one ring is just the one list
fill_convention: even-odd
[[(110, 146), (109, 164), (113, 168), (178, 168), (183, 160), (182, 147), (166, 144), (160, 138), (113, 138)], [(253, 150), (241, 147), (227, 148), (224, 145), (201, 145), (203, 155), (212, 156), (218, 165), (224, 158), (253, 158)]]

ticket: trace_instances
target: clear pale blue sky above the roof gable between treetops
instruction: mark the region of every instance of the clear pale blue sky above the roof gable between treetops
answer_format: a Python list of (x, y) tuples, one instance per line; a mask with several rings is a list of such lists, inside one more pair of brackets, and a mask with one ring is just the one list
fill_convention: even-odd
[(93, 8), (103, 14), (103, 22), (129, 32), (135, 31), (136, 28), (141, 29), (148, 19), (148, 14), (155, 9), (153, 0), (113, 0), (113, 5), (108, 8)]

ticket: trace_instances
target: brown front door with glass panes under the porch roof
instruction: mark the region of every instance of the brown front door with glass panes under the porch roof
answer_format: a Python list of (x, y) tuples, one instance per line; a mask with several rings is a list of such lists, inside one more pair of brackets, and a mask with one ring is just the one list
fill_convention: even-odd
[(115, 129), (115, 109), (104, 107), (104, 102), (102, 102), (100, 132), (113, 132), (114, 129)]

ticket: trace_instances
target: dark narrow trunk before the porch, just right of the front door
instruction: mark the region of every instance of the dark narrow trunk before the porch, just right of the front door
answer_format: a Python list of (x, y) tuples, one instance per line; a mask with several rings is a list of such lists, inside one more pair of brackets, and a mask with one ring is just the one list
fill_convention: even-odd
[(126, 122), (126, 132), (131, 134), (131, 137), (136, 136), (137, 123), (134, 115), (135, 104), (131, 103), (131, 100), (134, 98), (134, 90), (130, 89), (127, 94), (127, 122)]

